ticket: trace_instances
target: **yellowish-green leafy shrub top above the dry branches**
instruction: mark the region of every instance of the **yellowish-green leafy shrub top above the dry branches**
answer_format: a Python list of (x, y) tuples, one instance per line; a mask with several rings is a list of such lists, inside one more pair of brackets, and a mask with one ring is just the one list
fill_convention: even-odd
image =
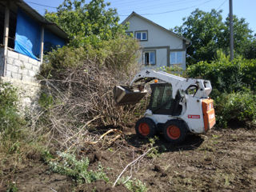
[(52, 70), (76, 69), (88, 60), (97, 62), (99, 67), (106, 66), (130, 73), (134, 63), (137, 63), (138, 50), (138, 42), (126, 35), (108, 41), (102, 40), (98, 48), (90, 45), (78, 48), (63, 46), (46, 55), (47, 62), (41, 66), (41, 74), (45, 78), (50, 78)]

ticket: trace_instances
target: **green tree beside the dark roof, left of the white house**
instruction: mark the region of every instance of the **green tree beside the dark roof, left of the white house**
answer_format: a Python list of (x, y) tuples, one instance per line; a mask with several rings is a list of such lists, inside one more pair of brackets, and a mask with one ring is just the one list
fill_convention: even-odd
[(116, 9), (108, 8), (110, 3), (104, 0), (64, 0), (57, 12), (46, 11), (45, 17), (55, 22), (70, 37), (72, 46), (97, 44), (125, 32), (125, 26), (119, 25)]

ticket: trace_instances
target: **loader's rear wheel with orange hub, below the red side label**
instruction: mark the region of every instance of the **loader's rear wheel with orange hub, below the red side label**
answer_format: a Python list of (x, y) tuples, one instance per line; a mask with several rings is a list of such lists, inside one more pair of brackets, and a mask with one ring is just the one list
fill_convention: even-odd
[(188, 130), (185, 122), (181, 120), (170, 120), (166, 122), (163, 128), (163, 134), (167, 142), (178, 144), (185, 140)]

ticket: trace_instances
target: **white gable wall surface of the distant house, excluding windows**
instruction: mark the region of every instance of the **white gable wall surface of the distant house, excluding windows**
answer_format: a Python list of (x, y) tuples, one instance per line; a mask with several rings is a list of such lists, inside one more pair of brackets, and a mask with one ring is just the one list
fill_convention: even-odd
[[(169, 66), (170, 51), (183, 51), (181, 67), (184, 70), (186, 69), (186, 47), (182, 38), (178, 38), (163, 30), (160, 26), (146, 22), (137, 16), (131, 17), (128, 22), (130, 22), (130, 25), (127, 31), (133, 32), (134, 35), (136, 31), (146, 30), (148, 32), (148, 40), (141, 41), (140, 44), (143, 50), (156, 50), (156, 67)], [(142, 58), (140, 63), (142, 63)]]

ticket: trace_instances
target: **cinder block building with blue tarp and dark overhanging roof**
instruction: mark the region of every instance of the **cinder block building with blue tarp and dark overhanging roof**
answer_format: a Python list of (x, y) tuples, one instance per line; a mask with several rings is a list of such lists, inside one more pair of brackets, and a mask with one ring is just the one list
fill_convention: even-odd
[(43, 54), (67, 42), (67, 34), (23, 0), (0, 1), (0, 77), (34, 82)]

